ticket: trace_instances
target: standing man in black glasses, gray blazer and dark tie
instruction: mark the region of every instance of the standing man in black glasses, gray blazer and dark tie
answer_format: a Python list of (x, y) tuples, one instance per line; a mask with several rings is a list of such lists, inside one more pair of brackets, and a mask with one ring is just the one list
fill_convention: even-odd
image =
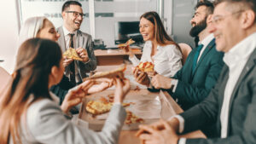
[(86, 72), (96, 69), (92, 39), (89, 34), (79, 31), (85, 15), (81, 3), (67, 1), (62, 6), (61, 15), (63, 26), (59, 27), (57, 31), (61, 35), (58, 43), (61, 45), (62, 52), (74, 48), (79, 57), (82, 58), (82, 60), (73, 60), (64, 57), (63, 61), (65, 75), (73, 85), (77, 85), (83, 82)]

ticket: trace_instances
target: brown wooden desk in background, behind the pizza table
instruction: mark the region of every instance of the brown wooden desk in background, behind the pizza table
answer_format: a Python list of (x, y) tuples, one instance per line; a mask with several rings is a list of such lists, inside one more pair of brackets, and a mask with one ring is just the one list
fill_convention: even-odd
[[(96, 55), (97, 66), (120, 65), (124, 63), (124, 60), (128, 60), (129, 57), (129, 55), (125, 53), (122, 49), (97, 49), (94, 50), (94, 54)], [(140, 58), (142, 52), (134, 51), (134, 54), (137, 55), (138, 58)]]

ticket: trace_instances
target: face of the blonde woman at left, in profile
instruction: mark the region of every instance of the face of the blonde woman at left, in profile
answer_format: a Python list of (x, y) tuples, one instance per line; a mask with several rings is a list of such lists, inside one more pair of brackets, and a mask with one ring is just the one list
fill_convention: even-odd
[(55, 26), (49, 20), (45, 19), (43, 27), (38, 31), (37, 37), (57, 41), (60, 34), (55, 31)]

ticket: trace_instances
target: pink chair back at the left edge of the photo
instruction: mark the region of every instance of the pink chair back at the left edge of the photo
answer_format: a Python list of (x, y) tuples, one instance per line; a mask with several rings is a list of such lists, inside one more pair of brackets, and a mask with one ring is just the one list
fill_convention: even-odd
[(0, 66), (0, 94), (3, 94), (3, 91), (6, 89), (11, 79), (12, 77), (9, 72), (5, 71), (5, 69)]

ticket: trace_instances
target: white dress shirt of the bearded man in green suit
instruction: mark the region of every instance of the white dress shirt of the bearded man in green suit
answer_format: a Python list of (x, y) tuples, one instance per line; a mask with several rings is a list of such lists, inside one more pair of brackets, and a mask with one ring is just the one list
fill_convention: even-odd
[[(198, 44), (203, 44), (204, 46), (203, 46), (203, 48), (200, 51), (200, 54), (199, 54), (198, 59), (197, 59), (197, 62), (200, 60), (201, 55), (203, 54), (203, 52), (207, 48), (208, 44), (212, 42), (213, 38), (214, 38), (213, 34), (210, 34), (207, 37), (205, 37), (201, 42), (198, 43)], [(176, 88), (177, 88), (178, 80), (177, 79), (172, 79), (171, 83), (173, 85), (172, 92), (174, 93)]]

